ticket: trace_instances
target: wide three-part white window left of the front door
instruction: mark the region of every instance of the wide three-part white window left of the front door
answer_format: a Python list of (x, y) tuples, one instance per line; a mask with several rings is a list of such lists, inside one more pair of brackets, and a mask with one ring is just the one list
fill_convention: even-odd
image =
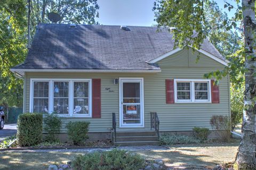
[(91, 117), (91, 79), (31, 79), (30, 112)]

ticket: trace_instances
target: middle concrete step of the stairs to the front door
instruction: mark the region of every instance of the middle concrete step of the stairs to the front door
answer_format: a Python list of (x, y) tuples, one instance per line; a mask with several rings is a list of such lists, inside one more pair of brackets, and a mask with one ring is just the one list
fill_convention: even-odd
[[(115, 137), (115, 136), (114, 136)], [(133, 136), (133, 137), (116, 137), (117, 142), (130, 142), (130, 141), (157, 141), (157, 135), (152, 136)]]

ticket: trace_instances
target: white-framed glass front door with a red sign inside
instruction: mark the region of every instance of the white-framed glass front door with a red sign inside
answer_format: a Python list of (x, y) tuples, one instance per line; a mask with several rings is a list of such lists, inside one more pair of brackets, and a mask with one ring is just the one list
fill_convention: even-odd
[(120, 127), (143, 127), (143, 78), (120, 78)]

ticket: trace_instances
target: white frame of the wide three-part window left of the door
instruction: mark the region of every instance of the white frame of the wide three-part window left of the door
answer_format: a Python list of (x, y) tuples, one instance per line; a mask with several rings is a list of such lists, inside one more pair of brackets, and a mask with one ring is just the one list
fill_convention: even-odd
[[(66, 81), (69, 82), (68, 91), (68, 114), (58, 114), (60, 117), (92, 117), (92, 79), (30, 79), (30, 101), (29, 112), (33, 113), (34, 108), (34, 82), (45, 81), (49, 82), (49, 113), (53, 113), (53, 82), (54, 81)], [(74, 82), (89, 82), (89, 114), (74, 114)]]

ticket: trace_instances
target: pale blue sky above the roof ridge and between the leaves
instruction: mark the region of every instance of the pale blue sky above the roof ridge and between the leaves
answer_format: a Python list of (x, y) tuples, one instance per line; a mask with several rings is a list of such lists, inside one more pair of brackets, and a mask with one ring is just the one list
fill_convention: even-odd
[[(228, 13), (228, 16), (234, 14), (234, 10), (228, 12), (223, 8), (224, 0), (215, 0), (219, 7)], [(227, 0), (235, 5), (234, 0)], [(154, 0), (98, 0), (100, 6), (99, 21), (103, 25), (142, 25), (151, 26), (154, 23)]]

